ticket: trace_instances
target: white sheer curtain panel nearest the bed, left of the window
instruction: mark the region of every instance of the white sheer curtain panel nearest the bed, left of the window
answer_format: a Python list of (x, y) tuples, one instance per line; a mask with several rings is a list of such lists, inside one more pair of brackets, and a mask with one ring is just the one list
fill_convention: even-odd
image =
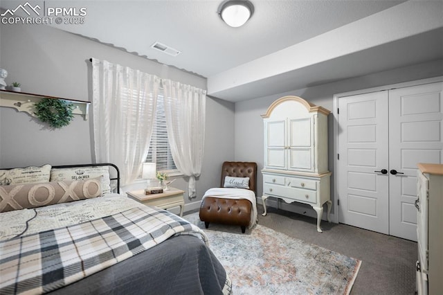
[(115, 163), (124, 186), (146, 159), (160, 78), (105, 60), (93, 59), (92, 69), (96, 161)]

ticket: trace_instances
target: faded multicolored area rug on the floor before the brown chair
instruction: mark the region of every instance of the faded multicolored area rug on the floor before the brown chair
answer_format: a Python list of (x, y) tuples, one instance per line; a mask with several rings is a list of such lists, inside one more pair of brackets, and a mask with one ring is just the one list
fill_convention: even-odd
[(361, 260), (291, 238), (258, 224), (210, 224), (198, 213), (186, 220), (208, 235), (210, 249), (233, 282), (233, 294), (349, 294)]

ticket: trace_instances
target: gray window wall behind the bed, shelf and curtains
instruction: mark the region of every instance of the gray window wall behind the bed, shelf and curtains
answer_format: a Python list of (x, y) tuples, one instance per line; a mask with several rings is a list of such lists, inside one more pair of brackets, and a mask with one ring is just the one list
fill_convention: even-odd
[[(56, 28), (0, 26), (0, 67), (8, 71), (6, 82), (20, 82), (24, 92), (91, 101), (90, 57), (206, 89), (205, 78)], [(234, 104), (208, 97), (206, 105), (204, 166), (197, 181), (199, 198), (206, 188), (219, 184), (214, 174), (219, 175), (221, 163), (234, 158)], [(0, 167), (91, 163), (91, 124), (91, 118), (75, 116), (69, 126), (52, 130), (26, 113), (1, 107)], [(178, 179), (174, 186), (186, 190), (186, 180)]]

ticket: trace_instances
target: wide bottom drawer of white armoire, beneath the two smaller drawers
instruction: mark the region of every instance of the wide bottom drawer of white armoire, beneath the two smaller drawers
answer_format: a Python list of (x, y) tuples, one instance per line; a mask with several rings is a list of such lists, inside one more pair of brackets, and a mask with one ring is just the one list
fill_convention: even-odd
[(316, 204), (317, 192), (315, 190), (305, 190), (301, 188), (290, 188), (289, 186), (278, 186), (275, 184), (264, 184), (263, 193), (281, 197), (282, 199), (291, 199), (295, 202)]

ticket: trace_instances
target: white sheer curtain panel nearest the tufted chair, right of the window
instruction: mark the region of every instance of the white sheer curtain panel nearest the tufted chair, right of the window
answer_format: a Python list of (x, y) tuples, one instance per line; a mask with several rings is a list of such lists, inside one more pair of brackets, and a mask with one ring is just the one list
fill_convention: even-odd
[(189, 197), (196, 197), (195, 177), (201, 173), (205, 139), (206, 90), (167, 79), (163, 101), (172, 158), (189, 177)]

